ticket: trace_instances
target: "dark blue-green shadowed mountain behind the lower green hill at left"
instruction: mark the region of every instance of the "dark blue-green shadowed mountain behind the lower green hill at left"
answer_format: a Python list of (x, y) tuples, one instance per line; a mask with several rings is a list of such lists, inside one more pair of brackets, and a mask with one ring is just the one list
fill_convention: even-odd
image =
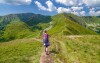
[(39, 23), (47, 24), (51, 21), (51, 17), (33, 13), (10, 14), (2, 16), (0, 17), (0, 30), (3, 30), (12, 21), (22, 21), (31, 28), (34, 28)]

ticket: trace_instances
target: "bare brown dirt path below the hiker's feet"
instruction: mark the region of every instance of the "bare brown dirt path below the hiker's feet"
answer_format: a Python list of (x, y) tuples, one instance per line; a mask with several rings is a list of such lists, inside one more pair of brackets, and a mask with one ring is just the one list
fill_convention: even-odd
[(49, 53), (46, 55), (46, 53), (43, 51), (40, 57), (40, 63), (54, 63), (51, 54)]

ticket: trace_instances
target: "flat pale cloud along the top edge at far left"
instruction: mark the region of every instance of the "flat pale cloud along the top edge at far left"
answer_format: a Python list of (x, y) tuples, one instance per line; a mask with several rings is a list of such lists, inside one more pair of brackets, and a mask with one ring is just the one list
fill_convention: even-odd
[(0, 0), (1, 4), (9, 4), (9, 5), (29, 5), (32, 0)]

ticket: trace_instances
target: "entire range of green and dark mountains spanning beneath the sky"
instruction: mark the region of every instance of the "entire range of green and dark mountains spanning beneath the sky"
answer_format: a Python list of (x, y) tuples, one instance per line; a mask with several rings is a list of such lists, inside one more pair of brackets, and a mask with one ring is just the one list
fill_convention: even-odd
[[(44, 29), (48, 29), (51, 35), (97, 34), (97, 30), (98, 32), (100, 31), (99, 20), (99, 17), (79, 17), (66, 13), (55, 16), (44, 16), (34, 13), (10, 14), (0, 17), (0, 37), (2, 37), (0, 39), (10, 40), (33, 37), (41, 34), (41, 31)], [(96, 27), (96, 30), (88, 26), (94, 23), (98, 26), (93, 26)]]

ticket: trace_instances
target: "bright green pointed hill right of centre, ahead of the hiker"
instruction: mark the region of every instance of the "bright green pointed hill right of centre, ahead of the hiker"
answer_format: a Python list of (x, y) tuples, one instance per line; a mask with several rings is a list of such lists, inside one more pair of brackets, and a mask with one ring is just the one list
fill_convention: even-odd
[(63, 34), (63, 35), (84, 35), (96, 34), (94, 31), (86, 29), (78, 23), (68, 19), (64, 14), (58, 14), (52, 17), (52, 28), (49, 30), (50, 34)]

